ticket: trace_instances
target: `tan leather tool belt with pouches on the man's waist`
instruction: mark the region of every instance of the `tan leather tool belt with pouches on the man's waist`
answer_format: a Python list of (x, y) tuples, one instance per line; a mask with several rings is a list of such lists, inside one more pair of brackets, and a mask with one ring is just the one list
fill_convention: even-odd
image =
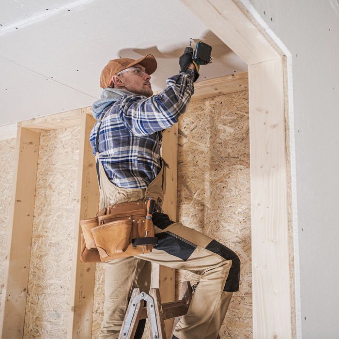
[(107, 262), (151, 252), (157, 238), (150, 217), (153, 211), (149, 212), (147, 201), (124, 202), (80, 220), (81, 262)]

